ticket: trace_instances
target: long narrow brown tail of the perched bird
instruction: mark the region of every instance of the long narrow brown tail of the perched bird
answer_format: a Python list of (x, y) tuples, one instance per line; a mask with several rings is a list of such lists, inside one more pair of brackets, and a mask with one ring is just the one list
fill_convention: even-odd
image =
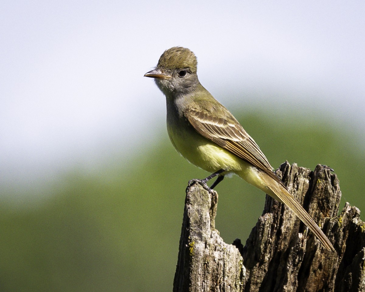
[(326, 235), (324, 235), (317, 223), (314, 222), (307, 211), (304, 210), (304, 208), (283, 185), (275, 181), (272, 177), (269, 177), (267, 174), (263, 175), (262, 178), (264, 178), (266, 185), (269, 186), (273, 192), (272, 194), (269, 194), (270, 196), (287, 205), (300, 218), (300, 220), (302, 220), (304, 224), (309, 227), (309, 229), (316, 235), (320, 242), (322, 242), (324, 247), (326, 247), (328, 250), (335, 250), (332, 243), (329, 241)]

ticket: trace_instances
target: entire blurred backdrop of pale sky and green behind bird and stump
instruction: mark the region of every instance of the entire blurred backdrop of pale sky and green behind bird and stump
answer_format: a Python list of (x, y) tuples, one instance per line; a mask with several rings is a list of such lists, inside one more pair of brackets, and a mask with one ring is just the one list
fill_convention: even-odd
[[(0, 291), (171, 291), (185, 187), (151, 70), (188, 47), (200, 82), (277, 168), (326, 164), (365, 210), (365, 4), (2, 1)], [(265, 196), (224, 180), (246, 241)], [(341, 209), (340, 209), (341, 210)], [(362, 217), (364, 218), (364, 217)]]

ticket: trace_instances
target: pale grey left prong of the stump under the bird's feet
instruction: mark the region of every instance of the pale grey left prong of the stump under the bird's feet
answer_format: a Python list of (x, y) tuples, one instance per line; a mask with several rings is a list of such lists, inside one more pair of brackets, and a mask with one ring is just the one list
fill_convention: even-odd
[(215, 229), (218, 193), (199, 183), (187, 188), (175, 292), (242, 291), (245, 267), (238, 249)]

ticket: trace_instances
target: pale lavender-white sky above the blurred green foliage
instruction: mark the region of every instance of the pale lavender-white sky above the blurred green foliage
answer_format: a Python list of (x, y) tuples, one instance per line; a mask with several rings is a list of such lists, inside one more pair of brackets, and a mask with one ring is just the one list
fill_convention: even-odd
[(363, 135), (363, 1), (33, 2), (0, 3), (1, 185), (142, 149), (166, 112), (143, 74), (178, 45), (231, 110), (315, 110)]

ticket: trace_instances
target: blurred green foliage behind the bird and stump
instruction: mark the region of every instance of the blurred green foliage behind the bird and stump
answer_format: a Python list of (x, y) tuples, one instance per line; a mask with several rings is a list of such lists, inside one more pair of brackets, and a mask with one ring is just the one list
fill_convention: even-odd
[[(341, 208), (349, 201), (365, 210), (364, 147), (351, 129), (287, 114), (239, 120), (275, 168), (285, 160), (329, 165), (340, 180)], [(127, 163), (126, 153), (114, 157), (99, 175), (70, 170), (47, 198), (4, 199), (0, 291), (171, 291), (185, 187), (207, 173), (176, 153), (166, 131), (143, 149)], [(245, 242), (264, 194), (238, 177), (216, 190), (216, 228), (226, 242)]]

